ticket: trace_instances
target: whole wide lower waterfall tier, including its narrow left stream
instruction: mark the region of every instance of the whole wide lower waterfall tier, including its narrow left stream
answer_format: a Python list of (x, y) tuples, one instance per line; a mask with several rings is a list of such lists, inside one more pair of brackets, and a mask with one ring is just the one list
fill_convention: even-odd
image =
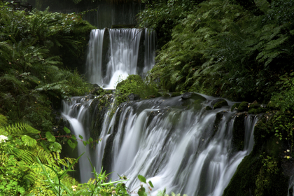
[[(71, 131), (86, 139), (99, 134), (101, 139), (94, 150), (78, 144), (79, 154), (87, 152), (79, 161), (80, 181), (87, 182), (91, 176), (88, 156), (98, 172), (102, 166), (113, 172), (112, 180), (118, 179), (118, 174), (127, 176), (130, 190), (139, 186), (137, 176), (141, 174), (155, 187), (151, 195), (165, 188), (167, 193), (222, 195), (237, 166), (253, 148), (257, 117), (231, 112), (234, 102), (228, 100), (228, 106), (207, 110), (219, 98), (194, 95), (190, 99), (179, 96), (125, 102), (112, 118), (106, 107), (97, 116), (102, 109), (101, 97), (64, 101), (63, 115)], [(235, 139), (238, 132), (243, 138), (239, 143)]]

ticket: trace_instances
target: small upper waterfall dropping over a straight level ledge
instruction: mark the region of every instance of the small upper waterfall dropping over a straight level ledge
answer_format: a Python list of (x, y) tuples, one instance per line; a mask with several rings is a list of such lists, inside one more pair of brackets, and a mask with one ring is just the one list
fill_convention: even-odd
[(92, 30), (87, 78), (90, 83), (113, 89), (129, 74), (146, 73), (155, 64), (155, 43), (155, 31), (148, 29)]

